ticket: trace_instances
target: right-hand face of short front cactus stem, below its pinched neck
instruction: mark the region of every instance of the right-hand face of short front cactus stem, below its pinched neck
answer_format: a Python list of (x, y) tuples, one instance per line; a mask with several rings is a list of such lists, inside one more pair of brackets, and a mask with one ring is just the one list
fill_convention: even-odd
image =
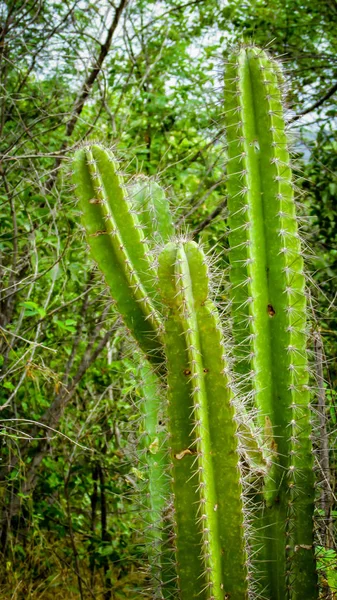
[[(210, 453), (217, 500), (211, 508), (217, 513), (221, 580), (228, 597), (239, 600), (246, 598), (247, 594), (247, 557), (243, 539), (238, 433), (231, 393), (223, 373), (225, 365), (221, 327), (211, 302), (206, 302), (200, 307), (198, 325), (201, 353), (204, 356), (203, 365), (206, 371)], [(218, 476), (218, 474), (222, 475)]]

